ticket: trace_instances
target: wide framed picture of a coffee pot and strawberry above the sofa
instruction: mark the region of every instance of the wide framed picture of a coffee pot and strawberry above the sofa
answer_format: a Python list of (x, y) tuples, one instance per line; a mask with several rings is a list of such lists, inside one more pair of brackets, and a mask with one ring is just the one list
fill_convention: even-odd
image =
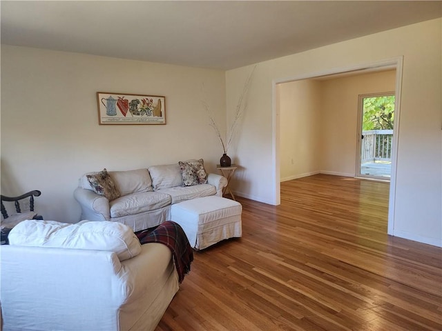
[(166, 124), (166, 97), (97, 92), (99, 125)]

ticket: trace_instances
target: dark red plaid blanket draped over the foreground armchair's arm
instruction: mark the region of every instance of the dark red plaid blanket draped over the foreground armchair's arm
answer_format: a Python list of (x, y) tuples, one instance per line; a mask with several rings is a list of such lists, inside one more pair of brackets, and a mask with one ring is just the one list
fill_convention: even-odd
[(173, 221), (166, 221), (157, 228), (137, 231), (135, 234), (141, 244), (162, 243), (169, 247), (181, 283), (184, 276), (191, 271), (193, 261), (193, 250), (181, 226)]

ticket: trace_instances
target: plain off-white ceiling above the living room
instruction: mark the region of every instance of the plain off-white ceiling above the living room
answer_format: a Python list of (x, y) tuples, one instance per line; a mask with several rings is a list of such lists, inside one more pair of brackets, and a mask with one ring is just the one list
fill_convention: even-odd
[(220, 70), (442, 16), (442, 1), (2, 0), (0, 6), (4, 44)]

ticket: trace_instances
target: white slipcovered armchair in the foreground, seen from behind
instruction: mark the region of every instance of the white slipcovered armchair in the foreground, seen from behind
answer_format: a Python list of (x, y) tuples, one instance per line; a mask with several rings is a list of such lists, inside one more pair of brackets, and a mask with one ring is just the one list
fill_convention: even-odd
[(9, 236), (4, 331), (154, 330), (179, 288), (171, 250), (121, 223), (31, 220)]

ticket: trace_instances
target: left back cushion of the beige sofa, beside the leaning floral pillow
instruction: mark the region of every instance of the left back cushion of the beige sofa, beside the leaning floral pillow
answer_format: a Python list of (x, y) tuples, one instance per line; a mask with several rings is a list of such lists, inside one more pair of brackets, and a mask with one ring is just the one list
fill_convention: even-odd
[(122, 196), (153, 191), (151, 175), (147, 169), (110, 171), (109, 175)]

